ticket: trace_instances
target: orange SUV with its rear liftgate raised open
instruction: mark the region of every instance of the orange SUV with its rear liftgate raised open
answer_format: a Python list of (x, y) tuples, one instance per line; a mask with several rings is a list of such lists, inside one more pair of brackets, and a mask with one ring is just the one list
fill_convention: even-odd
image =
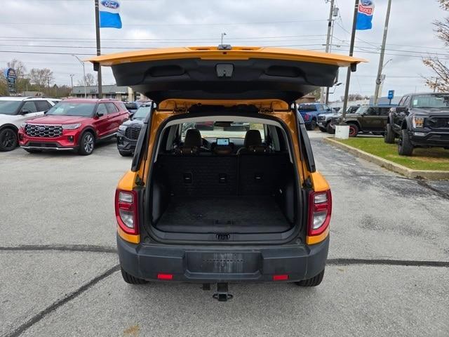
[(115, 194), (125, 282), (217, 283), (218, 300), (229, 282), (319, 285), (332, 196), (295, 101), (361, 61), (231, 46), (92, 58), (153, 100)]

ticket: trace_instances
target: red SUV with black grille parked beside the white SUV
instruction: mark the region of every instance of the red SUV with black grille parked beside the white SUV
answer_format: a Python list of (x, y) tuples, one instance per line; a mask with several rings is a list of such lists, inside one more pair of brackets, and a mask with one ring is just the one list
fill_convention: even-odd
[(19, 144), (27, 152), (74, 150), (88, 155), (95, 143), (116, 136), (129, 112), (117, 100), (63, 100), (43, 117), (20, 126)]

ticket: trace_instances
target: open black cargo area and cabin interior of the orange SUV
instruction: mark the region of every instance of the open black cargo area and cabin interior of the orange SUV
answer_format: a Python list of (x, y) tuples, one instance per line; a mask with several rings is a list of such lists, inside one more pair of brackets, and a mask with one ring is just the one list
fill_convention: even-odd
[[(292, 230), (296, 180), (281, 128), (244, 121), (224, 128), (213, 122), (174, 127), (179, 135), (170, 140), (168, 135), (177, 131), (168, 128), (162, 136), (168, 144), (161, 144), (154, 163), (155, 230), (164, 237), (187, 233), (227, 238)], [(177, 138), (180, 142), (173, 145)]]

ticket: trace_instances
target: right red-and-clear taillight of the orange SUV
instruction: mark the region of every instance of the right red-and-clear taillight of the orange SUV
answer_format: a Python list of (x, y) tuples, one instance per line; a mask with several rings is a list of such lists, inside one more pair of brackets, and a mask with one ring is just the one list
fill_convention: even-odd
[(328, 229), (332, 213), (332, 194), (326, 192), (311, 192), (309, 194), (309, 227), (307, 236), (322, 234)]

